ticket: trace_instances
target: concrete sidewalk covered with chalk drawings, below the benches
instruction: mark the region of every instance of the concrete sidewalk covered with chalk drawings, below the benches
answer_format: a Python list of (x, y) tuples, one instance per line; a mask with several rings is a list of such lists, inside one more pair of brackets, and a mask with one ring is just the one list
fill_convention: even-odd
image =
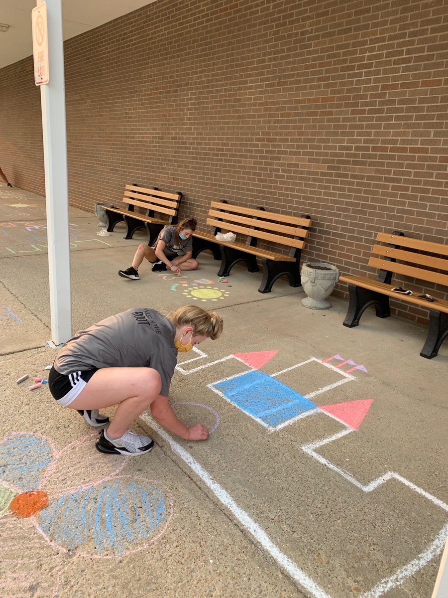
[[(70, 208), (73, 331), (134, 306), (199, 303), (225, 321), (179, 356), (171, 385), (180, 419), (210, 438), (187, 443), (144, 414), (151, 454), (106, 456), (46, 386), (28, 390), (56, 355), (44, 199), (0, 186), (0, 213), (2, 596), (431, 596), (448, 532), (448, 342), (421, 358), (424, 327), (369, 311), (345, 328), (345, 301), (305, 309), (283, 280), (262, 295), (261, 273), (238, 266), (219, 282), (206, 253), (194, 273), (143, 264), (124, 280), (146, 235), (98, 236), (96, 216)], [(47, 506), (12, 514), (31, 491)]]

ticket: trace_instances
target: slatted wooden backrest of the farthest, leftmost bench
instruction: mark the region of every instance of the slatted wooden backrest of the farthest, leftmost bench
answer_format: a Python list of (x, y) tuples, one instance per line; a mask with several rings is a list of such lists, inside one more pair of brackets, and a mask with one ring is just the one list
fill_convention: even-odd
[(168, 217), (170, 224), (176, 224), (177, 214), (179, 213), (179, 204), (182, 199), (182, 193), (167, 193), (159, 191), (157, 188), (147, 189), (138, 185), (126, 185), (124, 190), (123, 203), (130, 206), (130, 210), (144, 208), (147, 210), (146, 216), (154, 217), (158, 212)]

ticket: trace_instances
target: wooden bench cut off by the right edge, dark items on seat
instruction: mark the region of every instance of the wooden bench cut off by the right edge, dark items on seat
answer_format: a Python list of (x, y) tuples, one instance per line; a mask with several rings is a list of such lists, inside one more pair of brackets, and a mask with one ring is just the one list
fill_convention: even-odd
[[(373, 255), (369, 260), (369, 266), (379, 269), (378, 278), (372, 280), (361, 276), (341, 276), (339, 279), (340, 282), (348, 283), (349, 290), (348, 312), (343, 325), (348, 328), (357, 326), (364, 310), (370, 305), (375, 306), (378, 318), (388, 318), (391, 315), (389, 297), (425, 307), (429, 310), (429, 326), (420, 355), (432, 359), (448, 334), (448, 301), (437, 298), (437, 301), (431, 302), (418, 295), (428, 294), (426, 282), (448, 286), (448, 246), (412, 239), (398, 231), (392, 234), (378, 233), (376, 240), (385, 244), (374, 245)], [(412, 295), (392, 291), (392, 274), (414, 279), (409, 285), (406, 283), (406, 290), (412, 291)], [(431, 295), (432, 292), (429, 296)]]

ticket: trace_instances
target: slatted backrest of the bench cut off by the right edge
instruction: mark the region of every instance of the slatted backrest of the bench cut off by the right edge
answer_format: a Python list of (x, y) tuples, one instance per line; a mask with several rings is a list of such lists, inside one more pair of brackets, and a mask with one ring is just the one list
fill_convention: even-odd
[(381, 282), (389, 283), (391, 274), (387, 274), (394, 272), (448, 286), (448, 245), (412, 239), (397, 231), (378, 233), (376, 240), (386, 245), (373, 246), (374, 256), (381, 257), (371, 257), (369, 266), (381, 270)]

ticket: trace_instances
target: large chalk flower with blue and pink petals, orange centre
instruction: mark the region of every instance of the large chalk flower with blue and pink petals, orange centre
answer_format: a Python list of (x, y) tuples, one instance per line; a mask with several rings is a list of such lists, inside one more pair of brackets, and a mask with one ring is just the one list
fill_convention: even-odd
[(0, 544), (0, 560), (14, 538), (33, 530), (57, 552), (94, 559), (145, 550), (165, 532), (173, 514), (170, 492), (155, 480), (118, 475), (129, 457), (103, 458), (95, 437), (60, 451), (39, 434), (0, 441), (0, 523), (8, 539)]

